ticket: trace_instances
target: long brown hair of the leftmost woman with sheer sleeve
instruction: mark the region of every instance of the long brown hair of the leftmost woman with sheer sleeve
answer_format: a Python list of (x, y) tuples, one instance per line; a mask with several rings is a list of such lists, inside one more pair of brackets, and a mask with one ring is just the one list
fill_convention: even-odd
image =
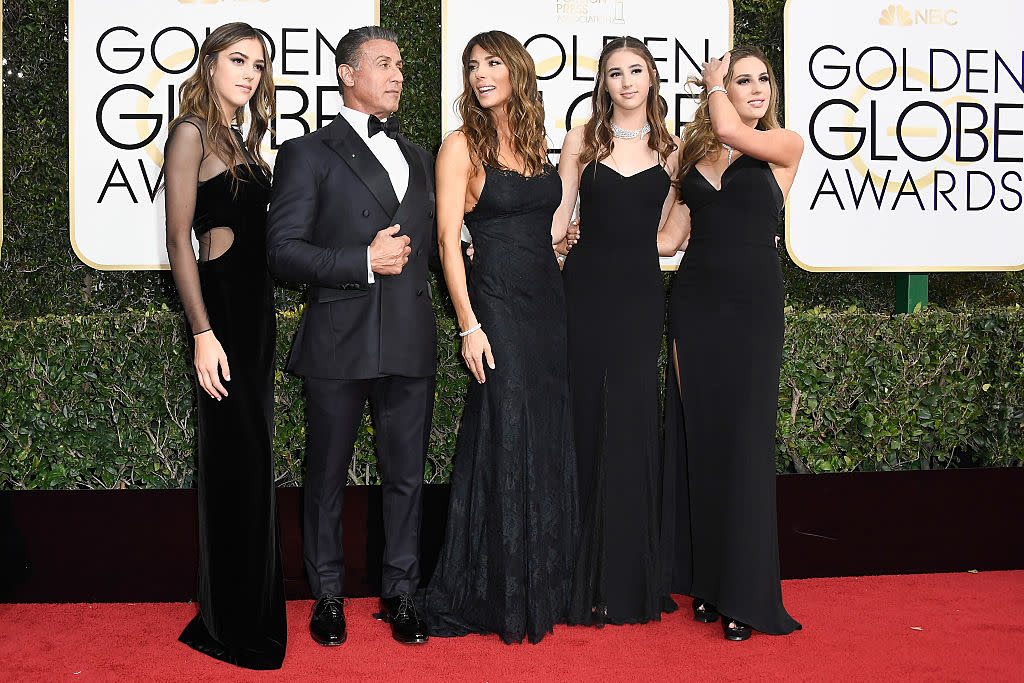
[[(224, 115), (214, 92), (213, 78), (210, 71), (217, 62), (219, 53), (247, 38), (255, 38), (263, 48), (263, 73), (260, 75), (256, 92), (249, 98), (249, 114), (251, 123), (249, 134), (245, 138), (245, 150), (239, 145), (234, 135), (221, 123)], [(270, 52), (258, 31), (248, 24), (236, 22), (214, 29), (199, 50), (196, 60), (196, 73), (189, 76), (178, 88), (178, 116), (171, 122), (168, 130), (186, 117), (198, 117), (206, 122), (205, 138), (211, 143), (213, 154), (224, 162), (236, 181), (241, 180), (234, 167), (234, 160), (246, 153), (259, 164), (263, 172), (270, 175), (270, 166), (260, 154), (259, 145), (263, 135), (270, 127), (270, 120), (276, 115), (273, 98), (273, 68), (270, 65)], [(242, 125), (245, 121), (244, 108), (233, 113), (233, 121)]]

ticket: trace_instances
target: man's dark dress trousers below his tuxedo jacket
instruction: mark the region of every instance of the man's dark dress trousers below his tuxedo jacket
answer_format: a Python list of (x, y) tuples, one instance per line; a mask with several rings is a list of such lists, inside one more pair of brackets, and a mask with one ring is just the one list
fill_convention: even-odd
[(384, 504), (381, 595), (415, 592), (420, 583), (423, 469), (430, 438), (434, 378), (306, 378), (305, 390), (308, 431), (302, 542), (313, 595), (343, 594), (341, 510), (352, 446), (368, 398)]

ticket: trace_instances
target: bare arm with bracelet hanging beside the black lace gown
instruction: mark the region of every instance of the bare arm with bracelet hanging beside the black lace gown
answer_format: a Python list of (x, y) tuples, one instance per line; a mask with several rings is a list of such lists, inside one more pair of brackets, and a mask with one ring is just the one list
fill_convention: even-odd
[(462, 356), (473, 377), (482, 384), (486, 380), (483, 362), (486, 360), (487, 366), (494, 370), (495, 359), (490, 354), (487, 335), (476, 319), (469, 300), (466, 264), (462, 258), (462, 221), (466, 215), (469, 180), (474, 171), (466, 136), (461, 131), (456, 131), (444, 138), (437, 152), (435, 167), (437, 244), (444, 282), (455, 305), (459, 329), (463, 333)]

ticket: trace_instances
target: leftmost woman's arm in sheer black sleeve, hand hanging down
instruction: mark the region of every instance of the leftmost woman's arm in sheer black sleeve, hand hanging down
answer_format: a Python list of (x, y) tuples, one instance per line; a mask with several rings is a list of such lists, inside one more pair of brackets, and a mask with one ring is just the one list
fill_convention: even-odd
[(175, 126), (164, 147), (167, 259), (196, 343), (193, 362), (199, 384), (211, 398), (220, 400), (227, 395), (221, 376), (230, 380), (231, 374), (227, 355), (207, 316), (196, 252), (191, 246), (191, 224), (203, 155), (203, 134), (199, 126), (187, 120)]

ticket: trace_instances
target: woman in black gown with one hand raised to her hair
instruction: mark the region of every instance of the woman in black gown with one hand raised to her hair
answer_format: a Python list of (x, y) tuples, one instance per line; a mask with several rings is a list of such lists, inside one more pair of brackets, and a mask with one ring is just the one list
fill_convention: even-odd
[(778, 88), (757, 48), (712, 59), (701, 85), (677, 180), (685, 219), (658, 240), (667, 254), (689, 238), (669, 304), (665, 550), (694, 618), (721, 613), (725, 637), (745, 640), (752, 628), (800, 628), (779, 586), (775, 231), (803, 141), (778, 125)]

